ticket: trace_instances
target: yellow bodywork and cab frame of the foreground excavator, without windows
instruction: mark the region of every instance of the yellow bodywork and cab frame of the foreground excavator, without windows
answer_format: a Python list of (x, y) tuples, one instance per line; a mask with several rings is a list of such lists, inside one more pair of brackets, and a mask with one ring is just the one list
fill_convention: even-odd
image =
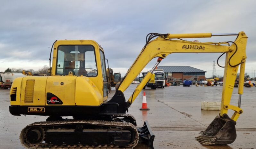
[[(59, 45), (92, 45), (95, 49), (98, 75), (96, 77), (56, 75), (56, 59)], [(12, 87), (17, 87), (17, 98), (16, 101), (11, 101), (11, 105), (51, 106), (47, 105), (46, 96), (47, 92), (49, 92), (62, 100), (63, 104), (56, 106), (100, 106), (107, 100), (107, 96), (103, 97), (100, 50), (103, 51), (98, 43), (92, 40), (57, 41), (53, 47), (52, 76), (26, 76), (15, 79)], [(33, 103), (24, 102), (27, 80), (35, 80)], [(61, 82), (64, 84), (61, 85)]]

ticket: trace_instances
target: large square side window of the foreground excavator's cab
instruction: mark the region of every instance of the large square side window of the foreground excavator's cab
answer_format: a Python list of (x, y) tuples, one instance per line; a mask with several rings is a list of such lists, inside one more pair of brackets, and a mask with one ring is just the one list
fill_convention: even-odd
[(92, 45), (60, 45), (57, 57), (57, 75), (95, 77), (98, 74), (95, 49)]

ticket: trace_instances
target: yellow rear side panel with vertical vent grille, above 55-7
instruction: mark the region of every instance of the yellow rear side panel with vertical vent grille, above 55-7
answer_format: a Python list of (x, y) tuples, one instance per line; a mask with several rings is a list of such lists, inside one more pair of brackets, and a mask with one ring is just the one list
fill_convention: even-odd
[[(45, 105), (45, 88), (48, 77), (26, 76), (21, 82), (21, 106), (25, 105)], [(16, 81), (16, 80), (15, 80)], [(14, 81), (14, 82), (15, 82)], [(34, 83), (30, 83), (30, 82)], [(30, 83), (30, 84), (27, 84)], [(26, 88), (27, 86), (27, 88)], [(29, 87), (28, 87), (29, 86)], [(33, 100), (28, 102), (28, 98)]]

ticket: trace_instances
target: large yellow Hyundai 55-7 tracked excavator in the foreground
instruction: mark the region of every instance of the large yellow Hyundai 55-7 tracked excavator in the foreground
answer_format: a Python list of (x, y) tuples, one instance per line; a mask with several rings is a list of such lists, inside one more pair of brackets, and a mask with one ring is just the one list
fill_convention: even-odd
[[(181, 38), (237, 36), (234, 42), (201, 43)], [(16, 78), (10, 92), (9, 111), (13, 115), (49, 116), (21, 131), (26, 148), (133, 148), (139, 141), (153, 147), (154, 134), (148, 122), (136, 128), (132, 115), (126, 114), (160, 61), (172, 53), (226, 53), (220, 114), (196, 139), (203, 145), (226, 145), (235, 141), (235, 124), (243, 110), (243, 78), (247, 36), (235, 34), (158, 34), (150, 33), (146, 44), (120, 82), (115, 95), (107, 101), (107, 73), (104, 51), (91, 40), (60, 40), (52, 46), (51, 76)], [(51, 53), (52, 53), (51, 50)], [(153, 58), (152, 70), (128, 100), (124, 91)], [(51, 65), (51, 54), (50, 54)], [(230, 105), (236, 74), (240, 66), (238, 106)], [(232, 117), (228, 110), (234, 110)], [(73, 116), (63, 119), (62, 116)]]

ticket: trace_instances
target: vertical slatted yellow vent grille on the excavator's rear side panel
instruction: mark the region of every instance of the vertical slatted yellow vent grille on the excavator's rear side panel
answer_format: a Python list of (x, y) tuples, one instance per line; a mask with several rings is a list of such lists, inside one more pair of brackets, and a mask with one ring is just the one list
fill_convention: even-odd
[(35, 80), (27, 80), (25, 89), (25, 103), (33, 103)]

